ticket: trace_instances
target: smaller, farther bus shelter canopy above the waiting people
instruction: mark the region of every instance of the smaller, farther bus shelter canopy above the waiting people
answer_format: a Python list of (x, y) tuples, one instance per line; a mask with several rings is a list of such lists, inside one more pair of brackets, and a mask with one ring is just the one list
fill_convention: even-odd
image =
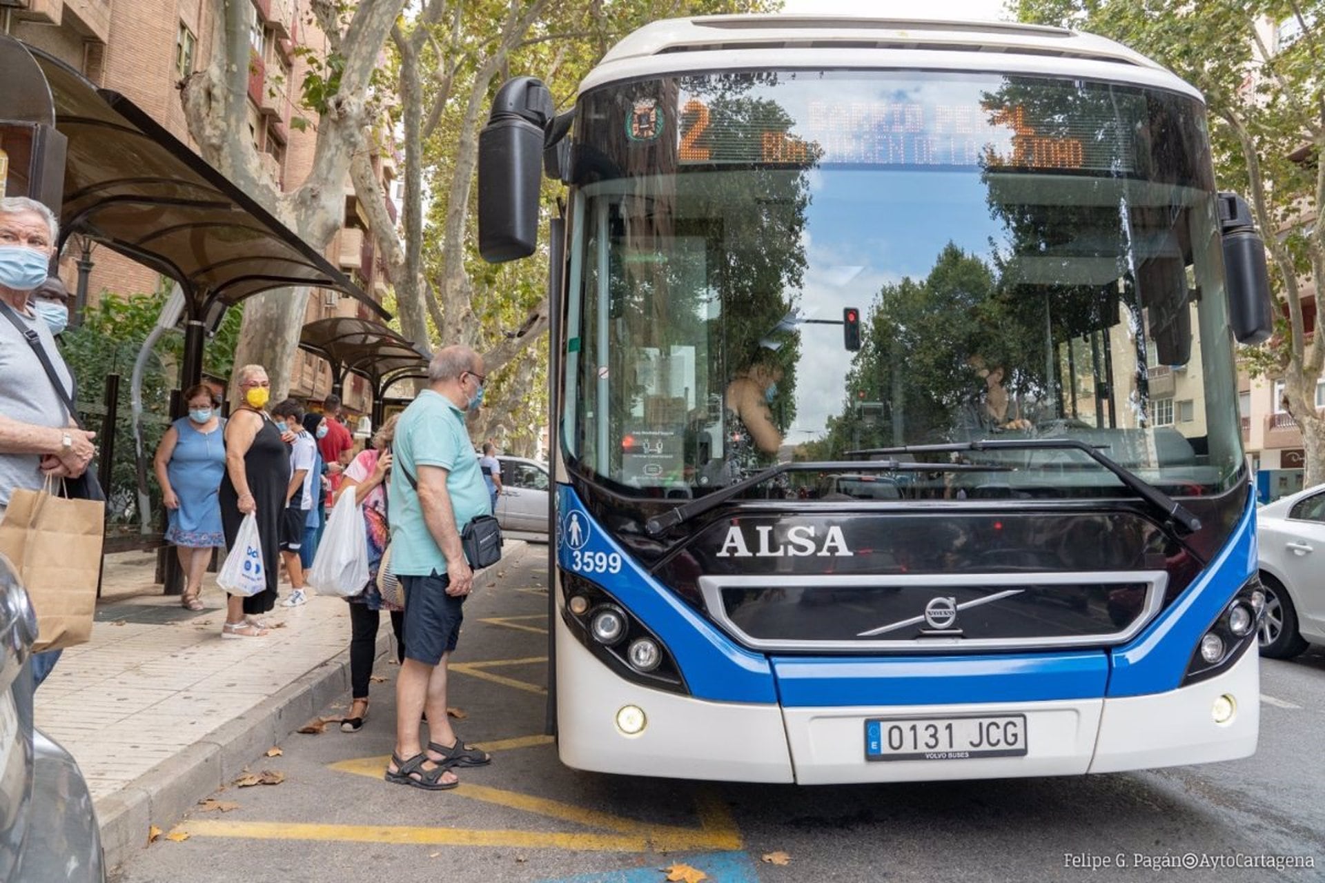
[(399, 380), (427, 377), (428, 353), (387, 326), (368, 319), (333, 316), (303, 326), (299, 348), (331, 365), (337, 396), (344, 381), (358, 375), (372, 388), (372, 425), (384, 417), (386, 393)]

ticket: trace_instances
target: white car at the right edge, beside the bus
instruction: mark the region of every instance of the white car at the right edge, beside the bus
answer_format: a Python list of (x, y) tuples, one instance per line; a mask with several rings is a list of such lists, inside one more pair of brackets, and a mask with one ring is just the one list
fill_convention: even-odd
[(1256, 539), (1265, 586), (1261, 655), (1287, 659), (1325, 643), (1325, 485), (1257, 510)]

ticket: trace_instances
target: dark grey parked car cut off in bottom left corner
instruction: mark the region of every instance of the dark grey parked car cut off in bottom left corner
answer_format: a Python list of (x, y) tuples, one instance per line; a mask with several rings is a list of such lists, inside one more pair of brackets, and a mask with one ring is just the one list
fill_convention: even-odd
[(37, 618), (0, 555), (0, 880), (102, 883), (101, 829), (74, 759), (33, 727)]

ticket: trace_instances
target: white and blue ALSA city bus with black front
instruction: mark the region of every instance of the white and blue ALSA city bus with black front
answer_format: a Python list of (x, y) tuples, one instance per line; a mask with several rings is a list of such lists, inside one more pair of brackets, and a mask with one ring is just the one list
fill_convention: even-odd
[(484, 257), (550, 262), (564, 764), (1255, 751), (1235, 343), (1268, 281), (1190, 85), (1057, 28), (698, 17), (566, 113), (509, 81), (480, 140)]

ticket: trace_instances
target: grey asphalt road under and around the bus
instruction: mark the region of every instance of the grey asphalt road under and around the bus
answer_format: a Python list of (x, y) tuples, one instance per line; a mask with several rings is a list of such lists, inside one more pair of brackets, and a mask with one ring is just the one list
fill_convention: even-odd
[[(450, 704), (492, 767), (461, 770), (452, 792), (383, 782), (396, 667), (379, 661), (362, 732), (290, 736), (253, 765), (280, 785), (215, 794), (237, 806), (199, 808), (176, 829), (188, 839), (158, 841), (114, 883), (644, 883), (676, 864), (719, 883), (1325, 879), (1321, 650), (1265, 661), (1260, 749), (1236, 763), (819, 788), (590, 774), (542, 736), (546, 560), (525, 547), (466, 606)], [(1314, 867), (1276, 870), (1284, 857)], [(1162, 866), (1185, 860), (1198, 867)]]

